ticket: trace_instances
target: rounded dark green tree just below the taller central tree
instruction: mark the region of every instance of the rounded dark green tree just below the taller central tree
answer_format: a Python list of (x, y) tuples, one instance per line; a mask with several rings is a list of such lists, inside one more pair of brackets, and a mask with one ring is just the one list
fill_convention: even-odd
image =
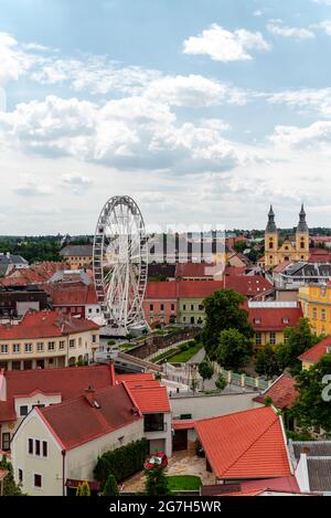
[(225, 369), (244, 367), (253, 356), (252, 340), (237, 329), (224, 329), (220, 335), (216, 360)]

